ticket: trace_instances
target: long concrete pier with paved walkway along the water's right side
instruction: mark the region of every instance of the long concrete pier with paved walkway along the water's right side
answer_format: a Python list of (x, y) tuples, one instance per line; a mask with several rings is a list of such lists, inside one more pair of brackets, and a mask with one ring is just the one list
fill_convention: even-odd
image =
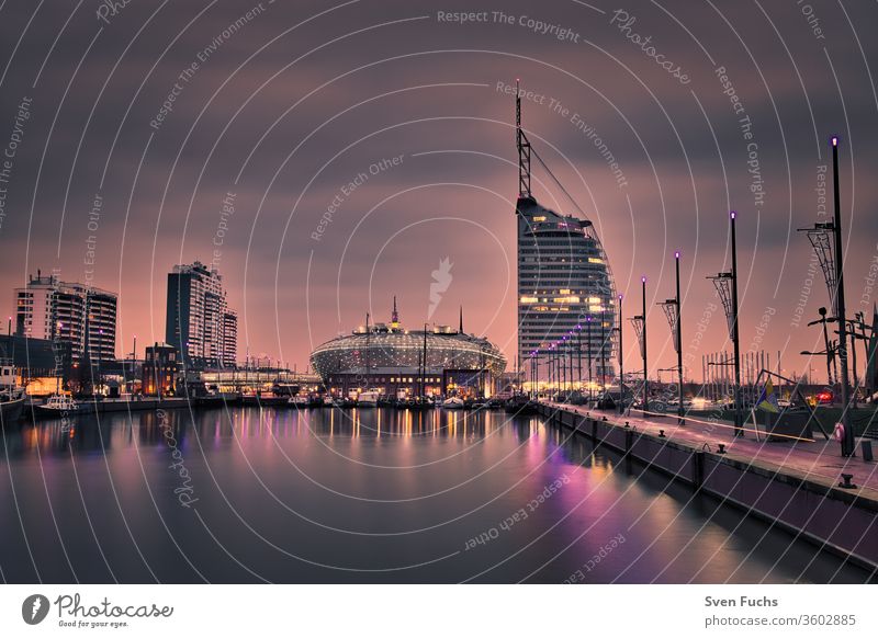
[[(619, 417), (551, 402), (541, 402), (540, 413), (597, 445), (878, 570), (878, 464), (842, 457), (834, 441), (765, 442), (755, 432), (735, 438), (733, 429), (721, 423), (687, 420), (678, 425), (676, 417)], [(857, 487), (840, 487), (842, 474), (853, 475)]]

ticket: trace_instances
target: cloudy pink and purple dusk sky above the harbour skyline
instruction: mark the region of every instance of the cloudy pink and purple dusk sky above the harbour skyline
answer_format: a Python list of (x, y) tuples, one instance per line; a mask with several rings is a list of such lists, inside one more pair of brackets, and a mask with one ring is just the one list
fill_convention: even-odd
[(119, 294), (127, 353), (164, 340), (167, 273), (198, 259), (224, 277), (240, 358), (303, 369), (396, 295), (412, 328), (462, 306), (511, 362), (520, 78), (570, 194), (534, 162), (534, 195), (593, 220), (626, 317), (648, 277), (653, 376), (675, 363), (656, 305), (675, 250), (687, 378), (731, 350), (707, 276), (730, 269), (734, 209), (742, 351), (822, 378), (799, 352), (822, 348), (807, 322), (829, 296), (797, 229), (831, 218), (837, 134), (848, 315), (870, 318), (876, 22), (874, 2), (819, 0), (5, 0), (0, 314), (56, 272)]

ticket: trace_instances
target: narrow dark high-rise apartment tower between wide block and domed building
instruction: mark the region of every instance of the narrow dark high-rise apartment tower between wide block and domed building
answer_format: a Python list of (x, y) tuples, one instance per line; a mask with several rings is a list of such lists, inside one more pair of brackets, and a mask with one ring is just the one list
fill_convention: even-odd
[(196, 261), (168, 273), (165, 340), (188, 367), (232, 367), (237, 355), (238, 317), (229, 310), (223, 277)]

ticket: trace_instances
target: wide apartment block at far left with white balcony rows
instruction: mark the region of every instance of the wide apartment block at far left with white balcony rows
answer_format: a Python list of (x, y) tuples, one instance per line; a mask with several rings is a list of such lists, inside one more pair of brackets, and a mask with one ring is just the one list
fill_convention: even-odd
[(67, 342), (75, 362), (115, 358), (116, 295), (37, 272), (15, 288), (15, 334)]

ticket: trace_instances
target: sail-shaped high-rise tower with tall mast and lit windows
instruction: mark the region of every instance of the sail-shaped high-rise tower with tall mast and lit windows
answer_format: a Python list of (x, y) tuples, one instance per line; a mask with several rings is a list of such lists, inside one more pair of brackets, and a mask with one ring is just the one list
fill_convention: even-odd
[[(532, 195), (530, 157), (536, 151), (521, 129), (518, 91), (516, 143), (520, 368), (527, 369), (532, 357), (540, 357), (544, 366), (544, 357), (560, 351), (575, 376), (582, 371), (587, 380), (590, 363), (592, 378), (610, 383), (618, 311), (607, 255), (590, 220), (550, 210)], [(552, 349), (556, 342), (561, 345)]]

